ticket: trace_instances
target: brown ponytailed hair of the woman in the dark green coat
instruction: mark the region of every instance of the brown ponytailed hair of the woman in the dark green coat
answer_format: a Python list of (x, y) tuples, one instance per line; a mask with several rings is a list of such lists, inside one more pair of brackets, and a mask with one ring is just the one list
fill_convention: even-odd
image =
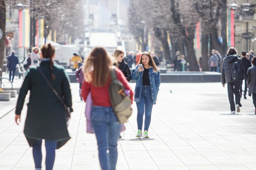
[(52, 61), (52, 56), (55, 53), (54, 47), (48, 43), (44, 44), (41, 48), (41, 52), (44, 58), (49, 58), (50, 59), (50, 71), (51, 71), (51, 78), (52, 80), (55, 80), (55, 75), (52, 73), (52, 68), (53, 68), (53, 61)]

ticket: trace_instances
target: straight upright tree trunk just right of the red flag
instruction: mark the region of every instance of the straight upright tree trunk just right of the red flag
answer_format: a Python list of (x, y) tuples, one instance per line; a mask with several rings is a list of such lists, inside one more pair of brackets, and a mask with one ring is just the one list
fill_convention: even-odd
[(209, 41), (209, 33), (208, 27), (205, 22), (201, 22), (202, 24), (202, 37), (201, 37), (201, 53), (202, 53), (202, 71), (209, 71), (208, 68), (208, 41)]

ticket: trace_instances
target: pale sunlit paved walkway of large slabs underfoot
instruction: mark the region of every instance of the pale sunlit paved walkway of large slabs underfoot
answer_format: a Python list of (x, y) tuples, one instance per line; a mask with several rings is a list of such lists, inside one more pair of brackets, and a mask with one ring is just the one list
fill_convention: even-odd
[[(95, 135), (86, 133), (85, 103), (76, 93), (78, 86), (71, 84), (72, 139), (57, 150), (56, 170), (100, 169)], [(241, 112), (230, 115), (227, 89), (220, 83), (162, 83), (148, 139), (135, 138), (133, 105), (134, 113), (118, 142), (117, 169), (256, 169), (256, 115), (252, 99), (241, 100)], [(23, 134), (25, 116), (26, 105), (20, 126), (14, 123), (14, 111), (0, 119), (0, 170), (34, 169), (32, 149)]]

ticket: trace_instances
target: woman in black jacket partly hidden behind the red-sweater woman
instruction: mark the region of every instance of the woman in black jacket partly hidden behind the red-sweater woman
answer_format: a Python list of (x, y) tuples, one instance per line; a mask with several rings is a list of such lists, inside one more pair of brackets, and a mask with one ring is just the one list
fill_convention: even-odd
[[(130, 67), (126, 62), (124, 62), (124, 51), (121, 49), (115, 49), (113, 56), (118, 61), (118, 68), (123, 72), (125, 78), (128, 82), (132, 80)], [(121, 134), (119, 134), (119, 138), (122, 138)]]

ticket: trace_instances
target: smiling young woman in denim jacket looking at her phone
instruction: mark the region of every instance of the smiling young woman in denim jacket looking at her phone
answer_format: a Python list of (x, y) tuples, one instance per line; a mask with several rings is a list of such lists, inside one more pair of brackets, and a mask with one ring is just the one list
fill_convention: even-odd
[(145, 122), (143, 137), (148, 136), (148, 128), (151, 121), (152, 107), (156, 104), (156, 98), (160, 86), (160, 71), (157, 68), (149, 52), (143, 52), (139, 64), (132, 70), (132, 80), (136, 80), (134, 101), (137, 105), (137, 126), (136, 137), (142, 137), (143, 115), (145, 108)]

